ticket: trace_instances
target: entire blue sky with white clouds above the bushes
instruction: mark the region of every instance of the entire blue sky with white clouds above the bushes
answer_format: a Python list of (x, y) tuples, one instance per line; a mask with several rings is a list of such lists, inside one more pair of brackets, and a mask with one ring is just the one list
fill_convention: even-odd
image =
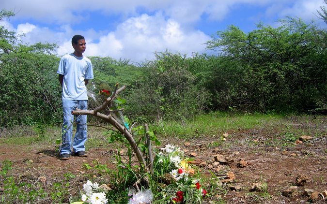
[(24, 44), (56, 43), (59, 56), (73, 52), (71, 37), (81, 34), (86, 56), (141, 62), (165, 50), (208, 53), (205, 42), (232, 24), (249, 32), (291, 16), (326, 28), (320, 6), (323, 0), (1, 0), (16, 15), (0, 25), (25, 34)]

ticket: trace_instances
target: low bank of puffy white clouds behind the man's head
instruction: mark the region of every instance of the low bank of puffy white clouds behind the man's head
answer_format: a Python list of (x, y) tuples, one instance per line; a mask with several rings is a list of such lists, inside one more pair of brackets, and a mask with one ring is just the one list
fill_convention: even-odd
[[(10, 26), (10, 24), (8, 24)], [(119, 24), (114, 31), (98, 33), (92, 29), (74, 31), (69, 25), (62, 25), (59, 31), (39, 27), (31, 23), (19, 24), (16, 32), (25, 33), (21, 40), (26, 44), (56, 43), (58, 55), (73, 52), (71, 37), (80, 33), (85, 36), (86, 56), (127, 58), (140, 62), (155, 57), (155, 52), (188, 54), (205, 51), (204, 43), (210, 39), (200, 30), (185, 29), (173, 19), (165, 19), (161, 13), (131, 17)]]

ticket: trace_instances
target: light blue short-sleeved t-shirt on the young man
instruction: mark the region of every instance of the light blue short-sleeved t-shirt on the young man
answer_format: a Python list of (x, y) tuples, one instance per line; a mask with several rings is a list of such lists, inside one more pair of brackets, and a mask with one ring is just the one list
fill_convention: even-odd
[(93, 68), (89, 58), (64, 55), (57, 73), (63, 75), (62, 100), (88, 100), (84, 79), (93, 79)]

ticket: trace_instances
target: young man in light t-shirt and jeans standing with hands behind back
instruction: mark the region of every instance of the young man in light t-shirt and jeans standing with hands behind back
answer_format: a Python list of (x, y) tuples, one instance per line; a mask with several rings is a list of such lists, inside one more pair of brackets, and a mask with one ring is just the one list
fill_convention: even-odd
[(62, 86), (62, 146), (60, 146), (60, 160), (68, 160), (71, 154), (71, 146), (74, 154), (79, 157), (87, 157), (84, 143), (87, 137), (86, 115), (76, 117), (76, 133), (72, 143), (72, 124), (75, 109), (87, 109), (88, 96), (86, 85), (89, 79), (93, 79), (93, 68), (89, 58), (83, 57), (86, 48), (85, 39), (81, 35), (72, 38), (74, 53), (64, 55), (59, 62), (57, 73)]

